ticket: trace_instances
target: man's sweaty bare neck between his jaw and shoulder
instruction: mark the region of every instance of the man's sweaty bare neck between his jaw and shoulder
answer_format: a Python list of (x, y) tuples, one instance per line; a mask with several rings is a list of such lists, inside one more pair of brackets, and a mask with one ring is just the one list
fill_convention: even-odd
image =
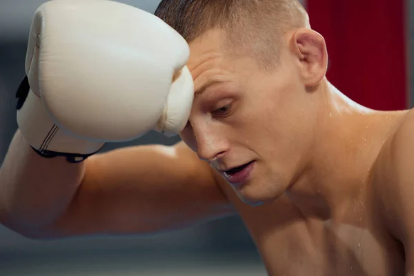
[(315, 142), (286, 195), (305, 217), (340, 219), (364, 196), (371, 168), (401, 113), (360, 106), (328, 81), (319, 89)]

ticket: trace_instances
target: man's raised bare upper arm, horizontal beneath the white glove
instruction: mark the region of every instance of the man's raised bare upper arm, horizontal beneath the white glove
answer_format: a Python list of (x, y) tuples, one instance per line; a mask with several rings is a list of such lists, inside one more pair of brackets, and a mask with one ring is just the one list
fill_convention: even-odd
[(151, 233), (233, 213), (217, 176), (183, 143), (90, 157), (60, 235)]

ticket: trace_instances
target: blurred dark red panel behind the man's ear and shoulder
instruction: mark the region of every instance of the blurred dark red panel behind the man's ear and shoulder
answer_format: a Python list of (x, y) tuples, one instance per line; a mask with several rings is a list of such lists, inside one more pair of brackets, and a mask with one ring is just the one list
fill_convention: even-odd
[(408, 108), (404, 0), (307, 0), (311, 26), (326, 39), (328, 79), (368, 108)]

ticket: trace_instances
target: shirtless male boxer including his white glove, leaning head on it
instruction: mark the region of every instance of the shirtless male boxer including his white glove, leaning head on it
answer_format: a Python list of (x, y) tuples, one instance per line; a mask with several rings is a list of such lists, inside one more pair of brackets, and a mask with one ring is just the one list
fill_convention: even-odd
[[(177, 32), (115, 2), (39, 8), (1, 222), (49, 239), (238, 214), (270, 275), (414, 275), (414, 115), (329, 83), (296, 0), (164, 0), (156, 15)], [(150, 129), (184, 143), (94, 155)]]

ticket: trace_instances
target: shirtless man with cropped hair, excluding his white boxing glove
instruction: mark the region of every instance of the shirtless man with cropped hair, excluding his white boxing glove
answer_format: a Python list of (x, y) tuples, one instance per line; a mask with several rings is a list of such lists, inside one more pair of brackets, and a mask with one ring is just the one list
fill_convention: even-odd
[(183, 142), (70, 164), (21, 129), (0, 173), (3, 224), (48, 239), (238, 214), (269, 275), (414, 275), (414, 115), (329, 83), (324, 38), (296, 0), (164, 0), (156, 15), (190, 46)]

